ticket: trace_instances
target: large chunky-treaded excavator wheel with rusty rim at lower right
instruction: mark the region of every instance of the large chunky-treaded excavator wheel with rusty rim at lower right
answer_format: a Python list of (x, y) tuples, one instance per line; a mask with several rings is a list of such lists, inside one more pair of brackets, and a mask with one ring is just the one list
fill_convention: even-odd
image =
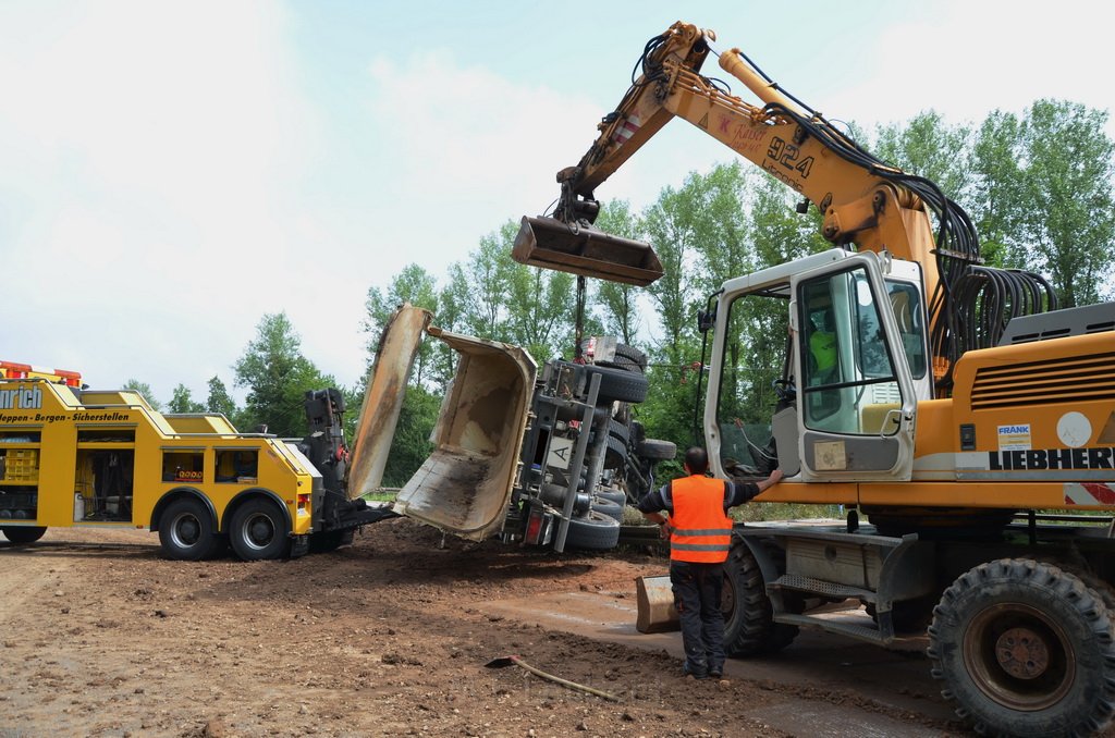
[(1115, 713), (1111, 616), (1095, 590), (1053, 564), (980, 564), (933, 610), (933, 678), (979, 734), (1101, 732)]

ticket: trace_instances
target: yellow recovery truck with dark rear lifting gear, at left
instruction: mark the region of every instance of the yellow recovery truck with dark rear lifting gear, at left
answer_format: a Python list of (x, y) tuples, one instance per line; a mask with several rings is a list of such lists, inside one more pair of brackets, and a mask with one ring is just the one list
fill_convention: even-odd
[(89, 390), (74, 371), (0, 362), (0, 532), (157, 531), (171, 559), (227, 542), (245, 561), (336, 547), (394, 515), (340, 491), (348, 451), (337, 390), (308, 392), (310, 435), (243, 434), (222, 415), (164, 415), (138, 394)]

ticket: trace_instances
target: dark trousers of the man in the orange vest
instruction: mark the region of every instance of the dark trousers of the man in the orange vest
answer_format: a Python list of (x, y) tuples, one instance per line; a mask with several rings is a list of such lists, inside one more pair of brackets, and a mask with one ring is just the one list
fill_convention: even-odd
[(724, 564), (670, 562), (673, 605), (681, 615), (681, 643), (686, 649), (686, 673), (697, 677), (724, 672), (724, 613), (720, 590)]

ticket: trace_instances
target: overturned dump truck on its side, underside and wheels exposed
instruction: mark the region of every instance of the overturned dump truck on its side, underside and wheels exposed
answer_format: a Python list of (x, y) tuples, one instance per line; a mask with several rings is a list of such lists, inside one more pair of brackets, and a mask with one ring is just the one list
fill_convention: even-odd
[(648, 439), (632, 407), (647, 397), (646, 356), (614, 339), (591, 339), (583, 362), (539, 367), (520, 347), (433, 327), (404, 305), (384, 331), (352, 448), (348, 491), (380, 488), (405, 387), (423, 340), (457, 353), (434, 429), (435, 448), (392, 508), (473, 541), (608, 550), (629, 501), (673, 458)]

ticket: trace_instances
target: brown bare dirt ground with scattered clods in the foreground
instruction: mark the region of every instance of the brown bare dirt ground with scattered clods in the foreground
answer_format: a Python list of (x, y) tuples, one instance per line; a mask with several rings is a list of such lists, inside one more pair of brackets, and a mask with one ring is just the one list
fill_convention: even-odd
[[(554, 591), (634, 598), (660, 555), (530, 554), (407, 519), (285, 562), (171, 562), (156, 544), (84, 530), (0, 544), (0, 737), (788, 736), (748, 715), (787, 700), (957, 729), (852, 687), (687, 680), (666, 652), (485, 609)], [(512, 653), (620, 699), (485, 668)]]

